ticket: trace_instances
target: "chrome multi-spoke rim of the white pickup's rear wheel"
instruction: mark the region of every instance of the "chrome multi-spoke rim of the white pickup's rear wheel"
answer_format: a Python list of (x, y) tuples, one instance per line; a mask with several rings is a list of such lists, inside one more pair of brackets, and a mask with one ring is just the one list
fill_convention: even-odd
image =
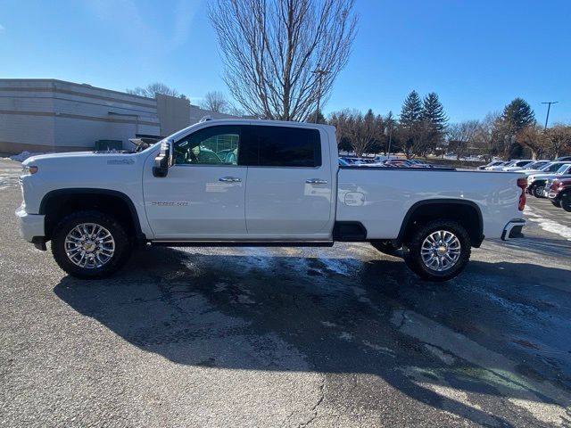
[(460, 258), (462, 245), (448, 230), (437, 230), (426, 236), (420, 247), (420, 256), (426, 268), (444, 272), (453, 268)]

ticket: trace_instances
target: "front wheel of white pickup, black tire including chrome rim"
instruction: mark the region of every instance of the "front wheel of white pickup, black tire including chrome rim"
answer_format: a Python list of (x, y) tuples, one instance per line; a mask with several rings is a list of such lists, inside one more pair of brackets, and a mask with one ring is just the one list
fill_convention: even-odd
[(123, 266), (129, 252), (125, 228), (99, 211), (70, 214), (55, 227), (52, 236), (55, 261), (70, 276), (80, 279), (111, 276)]

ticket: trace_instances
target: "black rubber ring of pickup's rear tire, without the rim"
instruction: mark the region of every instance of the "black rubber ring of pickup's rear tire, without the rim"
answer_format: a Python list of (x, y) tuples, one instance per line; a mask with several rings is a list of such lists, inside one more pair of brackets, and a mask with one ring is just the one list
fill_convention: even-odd
[[(425, 241), (426, 237), (437, 230), (449, 231), (456, 235), (459, 239), (461, 248), (460, 257), (456, 264), (452, 268), (443, 272), (438, 272), (428, 268), (420, 255), (422, 243)], [(466, 229), (463, 226), (460, 226), (459, 223), (448, 220), (435, 220), (426, 224), (426, 226), (420, 226), (406, 247), (407, 251), (405, 252), (405, 262), (407, 263), (407, 266), (418, 276), (434, 282), (448, 281), (449, 279), (458, 276), (466, 267), (468, 260), (470, 259), (471, 252), (470, 237)]]

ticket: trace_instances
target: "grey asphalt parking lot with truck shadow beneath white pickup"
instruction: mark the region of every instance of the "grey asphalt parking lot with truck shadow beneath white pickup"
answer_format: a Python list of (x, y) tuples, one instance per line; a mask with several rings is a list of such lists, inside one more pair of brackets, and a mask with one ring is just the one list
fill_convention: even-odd
[(0, 161), (2, 426), (571, 426), (571, 216), (458, 278), (367, 243), (153, 248), (66, 276), (18, 235)]

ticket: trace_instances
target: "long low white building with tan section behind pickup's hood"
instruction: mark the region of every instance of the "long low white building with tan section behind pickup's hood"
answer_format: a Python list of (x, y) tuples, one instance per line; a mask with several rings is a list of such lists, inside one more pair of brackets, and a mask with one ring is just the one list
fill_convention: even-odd
[(132, 148), (135, 136), (168, 136), (232, 116), (168, 95), (146, 98), (55, 79), (0, 78), (0, 152), (91, 150), (99, 140)]

